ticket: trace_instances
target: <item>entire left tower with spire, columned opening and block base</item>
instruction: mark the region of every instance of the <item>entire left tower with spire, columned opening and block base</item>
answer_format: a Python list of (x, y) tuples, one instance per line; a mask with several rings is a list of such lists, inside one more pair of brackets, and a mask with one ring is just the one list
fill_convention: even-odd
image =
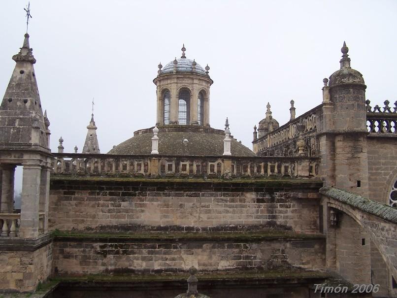
[[(1, 286), (7, 291), (33, 291), (51, 273), (50, 122), (41, 108), (28, 33), (12, 59), (16, 66), (0, 106), (0, 250), (1, 264), (13, 271), (3, 275)], [(13, 204), (16, 166), (23, 166), (20, 212)]]

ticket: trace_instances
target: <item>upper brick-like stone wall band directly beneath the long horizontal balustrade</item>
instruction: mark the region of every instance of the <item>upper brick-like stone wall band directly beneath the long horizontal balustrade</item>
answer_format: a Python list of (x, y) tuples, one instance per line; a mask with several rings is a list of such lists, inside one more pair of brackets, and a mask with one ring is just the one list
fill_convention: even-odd
[(316, 233), (320, 185), (288, 179), (262, 186), (53, 179), (49, 224), (64, 231), (222, 231), (256, 226)]

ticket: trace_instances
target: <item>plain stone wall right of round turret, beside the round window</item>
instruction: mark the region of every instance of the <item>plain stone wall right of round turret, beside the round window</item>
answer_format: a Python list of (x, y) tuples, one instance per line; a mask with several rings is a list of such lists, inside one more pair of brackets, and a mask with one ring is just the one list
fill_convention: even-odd
[(397, 138), (371, 136), (368, 144), (369, 199), (389, 204), (397, 180)]

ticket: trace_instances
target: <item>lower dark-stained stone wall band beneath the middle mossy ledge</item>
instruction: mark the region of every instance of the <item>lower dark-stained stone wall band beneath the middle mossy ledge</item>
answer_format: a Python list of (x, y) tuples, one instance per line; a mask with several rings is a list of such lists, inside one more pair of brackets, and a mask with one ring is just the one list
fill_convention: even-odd
[(217, 239), (214, 234), (206, 240), (175, 236), (168, 241), (157, 241), (150, 237), (60, 238), (54, 243), (54, 272), (61, 275), (186, 272), (192, 265), (201, 271), (260, 266), (268, 269), (325, 267), (323, 236), (265, 237), (251, 242), (238, 237)]

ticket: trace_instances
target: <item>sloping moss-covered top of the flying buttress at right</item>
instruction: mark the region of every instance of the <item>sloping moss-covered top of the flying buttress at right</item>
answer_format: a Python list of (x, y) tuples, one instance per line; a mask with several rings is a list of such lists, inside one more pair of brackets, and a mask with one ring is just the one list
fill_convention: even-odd
[(397, 209), (377, 201), (341, 190), (335, 187), (322, 187), (320, 194), (348, 204), (388, 222), (397, 224)]

